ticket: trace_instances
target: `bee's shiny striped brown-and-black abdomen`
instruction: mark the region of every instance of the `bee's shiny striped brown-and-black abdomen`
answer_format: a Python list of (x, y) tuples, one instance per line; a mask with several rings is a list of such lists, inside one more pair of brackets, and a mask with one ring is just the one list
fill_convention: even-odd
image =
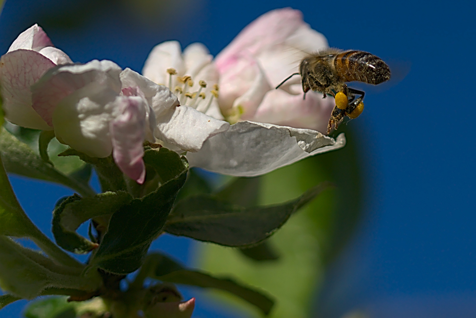
[(364, 51), (346, 51), (334, 59), (337, 74), (346, 82), (358, 80), (380, 84), (390, 79), (390, 69), (377, 56)]

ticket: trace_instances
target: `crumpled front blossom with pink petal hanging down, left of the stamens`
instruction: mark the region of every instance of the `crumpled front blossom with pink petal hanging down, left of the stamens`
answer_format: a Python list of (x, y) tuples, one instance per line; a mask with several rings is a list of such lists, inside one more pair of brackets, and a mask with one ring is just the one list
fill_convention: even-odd
[(163, 86), (111, 61), (62, 65), (32, 86), (33, 109), (55, 136), (91, 157), (111, 154), (130, 178), (142, 183), (144, 140), (162, 140), (181, 151), (198, 151), (228, 122), (179, 106)]

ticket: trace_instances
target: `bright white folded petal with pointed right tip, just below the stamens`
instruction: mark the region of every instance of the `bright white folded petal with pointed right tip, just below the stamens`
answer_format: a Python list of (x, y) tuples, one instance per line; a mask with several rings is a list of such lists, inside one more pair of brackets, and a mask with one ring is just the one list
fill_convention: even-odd
[(155, 137), (185, 151), (198, 151), (208, 138), (226, 131), (230, 124), (188, 106), (179, 106), (157, 118)]

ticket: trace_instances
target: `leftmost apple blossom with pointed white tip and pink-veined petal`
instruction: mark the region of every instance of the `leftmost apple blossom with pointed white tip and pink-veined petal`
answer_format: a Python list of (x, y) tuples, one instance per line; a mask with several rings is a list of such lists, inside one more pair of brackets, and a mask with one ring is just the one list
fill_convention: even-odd
[(51, 130), (31, 107), (30, 86), (52, 67), (71, 62), (37, 24), (23, 31), (0, 59), (5, 118), (19, 126)]

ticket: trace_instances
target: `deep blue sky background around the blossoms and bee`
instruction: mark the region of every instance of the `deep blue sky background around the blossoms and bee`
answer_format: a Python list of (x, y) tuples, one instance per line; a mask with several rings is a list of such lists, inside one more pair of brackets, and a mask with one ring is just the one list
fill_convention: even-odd
[[(394, 66), (395, 75), (408, 72), (365, 88), (366, 109), (349, 123), (362, 138), (366, 218), (332, 264), (316, 315), (337, 318), (363, 308), (388, 318), (476, 316), (473, 2), (182, 0), (169, 15), (151, 11), (151, 19), (103, 2), (7, 0), (0, 52), (33, 23), (66, 11), (82, 21), (79, 27), (57, 28), (57, 18), (43, 26), (72, 60), (108, 59), (140, 71), (159, 42), (200, 41), (216, 55), (260, 14), (291, 6), (330, 46), (367, 50)], [(45, 216), (70, 191), (11, 181), (26, 212), (49, 233)], [(163, 237), (156, 245), (192, 261), (188, 239)], [(19, 317), (24, 304), (9, 305), (2, 317)], [(207, 303), (195, 315), (234, 317)]]

